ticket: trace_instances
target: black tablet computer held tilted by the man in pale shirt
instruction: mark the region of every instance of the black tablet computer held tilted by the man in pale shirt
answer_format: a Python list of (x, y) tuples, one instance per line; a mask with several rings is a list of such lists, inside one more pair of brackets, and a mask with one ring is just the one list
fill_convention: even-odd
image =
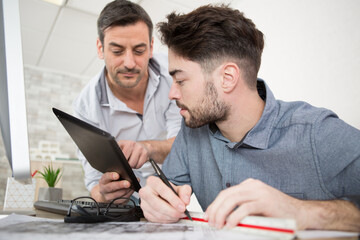
[(139, 191), (141, 186), (111, 134), (59, 109), (53, 108), (53, 112), (93, 168), (102, 173), (117, 172), (120, 179), (128, 180), (131, 188)]

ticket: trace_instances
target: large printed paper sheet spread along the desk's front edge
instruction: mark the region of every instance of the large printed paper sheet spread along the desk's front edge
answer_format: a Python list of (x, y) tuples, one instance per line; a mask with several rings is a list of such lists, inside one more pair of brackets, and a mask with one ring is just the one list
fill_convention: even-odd
[(271, 239), (194, 224), (149, 222), (64, 223), (63, 220), (12, 214), (0, 220), (0, 239), (131, 239), (131, 240), (241, 240)]

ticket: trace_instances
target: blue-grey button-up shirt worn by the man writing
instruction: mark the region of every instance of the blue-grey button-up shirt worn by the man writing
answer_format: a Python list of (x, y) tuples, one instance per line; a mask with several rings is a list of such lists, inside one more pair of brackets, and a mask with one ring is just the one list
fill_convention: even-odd
[(165, 175), (190, 184), (203, 210), (247, 178), (299, 199), (348, 198), (360, 205), (360, 131), (327, 109), (275, 100), (262, 80), (258, 91), (265, 109), (241, 142), (230, 142), (215, 124), (191, 129), (183, 123)]

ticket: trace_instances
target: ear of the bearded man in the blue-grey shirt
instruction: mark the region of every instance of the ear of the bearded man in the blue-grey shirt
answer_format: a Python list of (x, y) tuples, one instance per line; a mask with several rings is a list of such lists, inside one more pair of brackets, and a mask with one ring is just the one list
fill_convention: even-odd
[(229, 93), (236, 87), (240, 77), (240, 69), (236, 63), (224, 64), (222, 71), (221, 87), (225, 93)]

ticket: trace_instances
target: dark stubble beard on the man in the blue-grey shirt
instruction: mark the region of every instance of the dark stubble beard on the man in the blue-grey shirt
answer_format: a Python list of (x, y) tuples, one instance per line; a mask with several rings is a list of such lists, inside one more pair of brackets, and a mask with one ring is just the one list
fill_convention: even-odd
[(185, 124), (190, 128), (225, 121), (228, 116), (229, 106), (218, 99), (214, 83), (209, 79), (206, 80), (203, 96), (198, 103), (194, 104), (195, 107), (189, 109), (179, 101), (176, 101), (176, 104), (179, 108), (188, 111), (189, 118), (185, 118)]

